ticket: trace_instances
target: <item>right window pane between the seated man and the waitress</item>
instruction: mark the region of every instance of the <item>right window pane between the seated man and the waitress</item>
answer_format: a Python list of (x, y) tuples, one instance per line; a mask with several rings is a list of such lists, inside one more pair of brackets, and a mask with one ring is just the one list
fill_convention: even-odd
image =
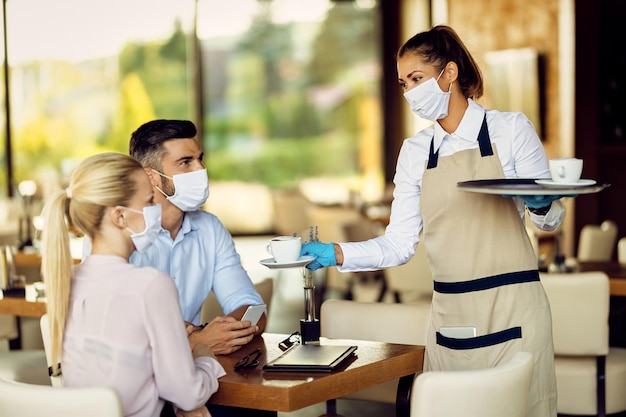
[(382, 183), (375, 2), (199, 0), (212, 180)]

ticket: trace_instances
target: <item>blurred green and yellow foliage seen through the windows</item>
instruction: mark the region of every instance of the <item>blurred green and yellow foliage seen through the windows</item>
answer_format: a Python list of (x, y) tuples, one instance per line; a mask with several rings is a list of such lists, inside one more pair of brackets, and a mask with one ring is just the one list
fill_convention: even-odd
[[(205, 62), (205, 78), (219, 78), (204, 92), (211, 180), (284, 187), (310, 176), (354, 176), (359, 99), (379, 81), (355, 68), (377, 60), (376, 11), (337, 3), (312, 45), (301, 41), (301, 27), (274, 24), (268, 13), (261, 9), (230, 50)], [(47, 89), (37, 84), (42, 64), (20, 68), (34, 74), (37, 93), (14, 128), (16, 182), (50, 169), (67, 173), (68, 160), (96, 152), (126, 153), (132, 131), (150, 119), (192, 119), (187, 43), (178, 23), (165, 42), (129, 43), (117, 77), (110, 60), (46, 63), (54, 79)], [(319, 91), (340, 94), (320, 105)]]

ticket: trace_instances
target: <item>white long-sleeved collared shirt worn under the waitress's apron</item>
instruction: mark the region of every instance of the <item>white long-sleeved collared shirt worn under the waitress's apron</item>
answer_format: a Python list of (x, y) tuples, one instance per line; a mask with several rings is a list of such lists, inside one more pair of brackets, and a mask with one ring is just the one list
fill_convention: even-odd
[[(340, 243), (344, 255), (342, 272), (366, 271), (406, 263), (415, 252), (423, 227), (420, 209), (422, 176), (434, 137), (439, 156), (478, 148), (478, 133), (487, 114), (487, 128), (497, 149), (505, 178), (550, 178), (545, 150), (535, 127), (523, 113), (486, 111), (468, 99), (469, 106), (457, 130), (448, 134), (439, 123), (421, 130), (404, 141), (398, 156), (391, 219), (385, 234), (365, 242)], [(524, 202), (514, 199), (520, 220), (524, 219)], [(453, 209), (453, 208), (449, 208)], [(457, 207), (463, 210), (463, 207)], [(541, 230), (554, 230), (563, 220), (565, 209), (554, 201), (545, 216), (529, 212), (531, 221)]]

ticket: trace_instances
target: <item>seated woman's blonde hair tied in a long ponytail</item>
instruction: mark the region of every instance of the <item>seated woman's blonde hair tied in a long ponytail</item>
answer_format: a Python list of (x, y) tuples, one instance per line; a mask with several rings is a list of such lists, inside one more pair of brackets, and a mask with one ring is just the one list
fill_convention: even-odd
[(46, 283), (53, 364), (59, 363), (63, 356), (72, 284), (68, 224), (93, 240), (99, 234), (107, 207), (128, 205), (135, 195), (137, 185), (132, 175), (141, 170), (141, 164), (128, 155), (97, 154), (76, 168), (67, 190), (57, 191), (46, 201), (41, 272)]

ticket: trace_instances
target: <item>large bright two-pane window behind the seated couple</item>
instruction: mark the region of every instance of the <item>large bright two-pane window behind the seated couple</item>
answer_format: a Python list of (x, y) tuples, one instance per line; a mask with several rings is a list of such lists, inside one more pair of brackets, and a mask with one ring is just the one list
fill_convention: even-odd
[(214, 181), (383, 182), (375, 1), (6, 4), (16, 183), (63, 185), (153, 118), (204, 120)]

